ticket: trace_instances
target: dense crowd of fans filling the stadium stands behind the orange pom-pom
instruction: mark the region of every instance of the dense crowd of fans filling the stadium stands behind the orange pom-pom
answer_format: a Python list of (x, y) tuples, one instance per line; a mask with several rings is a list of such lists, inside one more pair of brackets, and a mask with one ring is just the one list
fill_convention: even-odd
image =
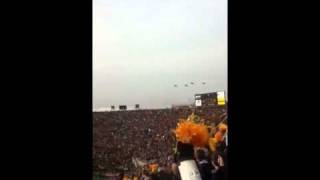
[[(226, 119), (226, 107), (94, 112), (94, 172), (125, 172), (135, 174), (139, 179), (179, 179), (172, 130), (179, 119), (186, 119), (192, 112), (213, 126)], [(217, 179), (225, 164), (225, 146), (220, 148), (220, 153), (207, 152), (205, 149), (196, 151), (199, 170), (201, 174), (209, 173), (208, 177), (215, 175)], [(210, 166), (205, 166), (204, 162)], [(157, 163), (157, 173), (141, 169), (141, 163)]]

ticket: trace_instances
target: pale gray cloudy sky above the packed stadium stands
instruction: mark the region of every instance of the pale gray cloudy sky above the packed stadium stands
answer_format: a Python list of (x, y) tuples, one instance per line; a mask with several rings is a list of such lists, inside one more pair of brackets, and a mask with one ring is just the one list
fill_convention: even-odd
[(227, 0), (93, 0), (94, 109), (161, 108), (219, 90), (227, 91)]

